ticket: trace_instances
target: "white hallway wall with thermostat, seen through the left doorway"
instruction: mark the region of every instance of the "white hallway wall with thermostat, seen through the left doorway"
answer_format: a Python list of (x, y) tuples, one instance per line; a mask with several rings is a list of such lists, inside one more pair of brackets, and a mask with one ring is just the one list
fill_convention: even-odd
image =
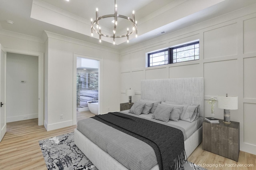
[(38, 118), (38, 57), (7, 53), (6, 122), (35, 118)]

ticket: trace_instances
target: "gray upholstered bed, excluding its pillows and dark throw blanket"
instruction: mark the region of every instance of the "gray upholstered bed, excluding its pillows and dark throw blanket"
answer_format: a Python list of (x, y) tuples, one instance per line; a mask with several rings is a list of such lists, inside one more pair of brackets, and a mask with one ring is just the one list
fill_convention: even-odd
[[(178, 122), (168, 122), (170, 124), (168, 126), (181, 126), (180, 129), (184, 129), (182, 131), (184, 134), (184, 149), (186, 151), (186, 156), (190, 156), (190, 154), (202, 141), (202, 121), (204, 119), (204, 78), (193, 77), (180, 79), (142, 80), (141, 99), (162, 101), (163, 104), (166, 105), (168, 104), (168, 102), (183, 104), (189, 103), (190, 105), (198, 105), (198, 107), (196, 107), (198, 117), (195, 121), (192, 121), (191, 123), (183, 120), (178, 120)], [(132, 115), (134, 117), (141, 117), (143, 119), (150, 120), (153, 113), (150, 113), (148, 115), (134, 115), (128, 113), (128, 111), (124, 111), (121, 112), (121, 114)], [(152, 120), (154, 120), (155, 122), (162, 122), (155, 119)], [(168, 123), (162, 122), (162, 124)], [(146, 143), (128, 134), (124, 134), (123, 132), (120, 132), (119, 130), (109, 127), (108, 125), (105, 125), (104, 123), (101, 123), (100, 121), (94, 120), (92, 118), (89, 118), (87, 122), (84, 123), (84, 125), (81, 124), (82, 123), (78, 123), (78, 129), (80, 129), (75, 129), (74, 131), (74, 142), (76, 146), (78, 146), (78, 148), (92, 161), (92, 163), (99, 170), (159, 170), (158, 162), (154, 161), (156, 156), (154, 156), (154, 153), (152, 154), (152, 148), (150, 146), (147, 146)], [(194, 125), (191, 126), (192, 124)], [(89, 130), (89, 128), (91, 131)], [(104, 133), (110, 131), (111, 134)], [(103, 133), (98, 134), (99, 132)], [(122, 135), (125, 135), (125, 137), (120, 137), (121, 133)], [(108, 147), (107, 144), (102, 141), (102, 138), (108, 138), (107, 140), (111, 140), (109, 142), (116, 142), (116, 144), (119, 144), (120, 146)], [(127, 142), (126, 138), (129, 138), (129, 142)], [(94, 142), (92, 142), (92, 140)], [(130, 140), (132, 140), (132, 142), (130, 142)], [(135, 146), (137, 147), (137, 149), (135, 148)], [(132, 148), (135, 148), (135, 150), (131, 151)], [(144, 149), (141, 151), (143, 152), (143, 154), (144, 152), (152, 154), (152, 158), (145, 157), (137, 161), (136, 156), (141, 154), (140, 148)], [(113, 156), (113, 153), (116, 152), (116, 150), (121, 150), (122, 153), (117, 154), (117, 156)], [(125, 157), (126, 154), (127, 158)], [(127, 165), (126, 162), (129, 163), (129, 161), (131, 161), (130, 157), (133, 157), (134, 159), (136, 158), (136, 161), (132, 160), (134, 161), (132, 162), (132, 165)], [(122, 162), (119, 158), (127, 161)], [(140, 162), (146, 162), (146, 164), (151, 163), (150, 168), (145, 168), (145, 166), (147, 165), (143, 165), (142, 168), (140, 168)]]

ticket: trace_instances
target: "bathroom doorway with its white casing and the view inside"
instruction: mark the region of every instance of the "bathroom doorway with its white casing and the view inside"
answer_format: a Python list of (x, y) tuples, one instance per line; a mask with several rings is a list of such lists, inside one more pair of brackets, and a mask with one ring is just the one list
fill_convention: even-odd
[[(102, 59), (74, 54), (73, 120), (76, 112), (89, 111), (101, 114)], [(93, 107), (93, 108), (92, 108)], [(91, 109), (90, 109), (91, 108)]]

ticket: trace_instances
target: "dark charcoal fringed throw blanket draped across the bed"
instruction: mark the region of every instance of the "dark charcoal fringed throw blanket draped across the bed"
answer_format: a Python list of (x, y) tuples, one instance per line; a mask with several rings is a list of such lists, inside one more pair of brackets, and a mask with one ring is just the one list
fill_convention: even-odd
[(184, 136), (179, 129), (118, 112), (92, 118), (150, 145), (160, 170), (178, 170), (185, 162)]

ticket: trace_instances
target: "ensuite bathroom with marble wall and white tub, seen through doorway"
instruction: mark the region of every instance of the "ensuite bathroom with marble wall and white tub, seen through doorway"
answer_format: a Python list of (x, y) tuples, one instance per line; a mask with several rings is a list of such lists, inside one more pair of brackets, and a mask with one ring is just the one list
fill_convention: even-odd
[(76, 109), (98, 115), (99, 61), (77, 57)]

